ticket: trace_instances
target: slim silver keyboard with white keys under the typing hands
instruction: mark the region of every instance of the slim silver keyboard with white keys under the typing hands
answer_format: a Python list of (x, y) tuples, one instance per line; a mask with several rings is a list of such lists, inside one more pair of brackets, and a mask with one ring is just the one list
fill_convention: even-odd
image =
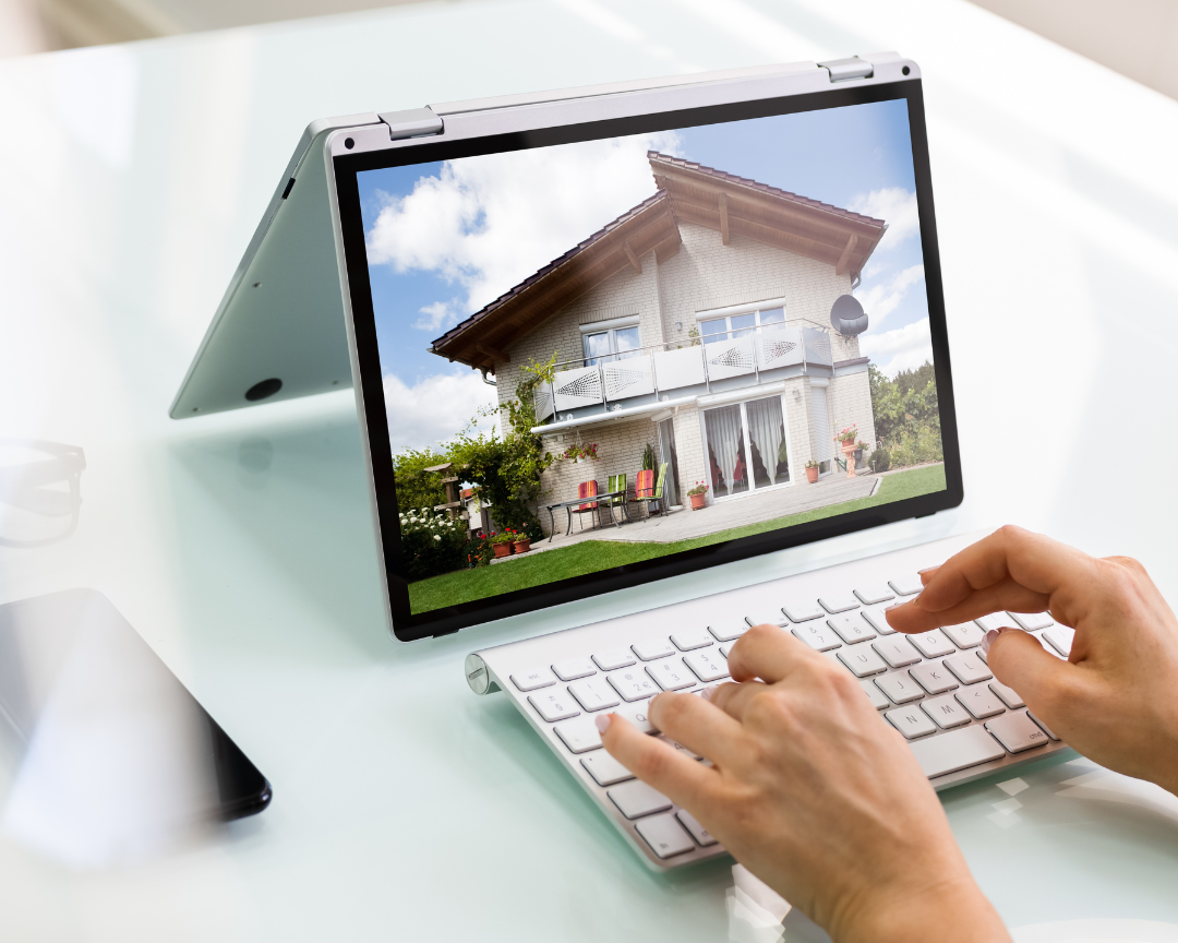
[(601, 746), (594, 718), (614, 712), (669, 740), (647, 717), (660, 691), (700, 693), (728, 680), (727, 657), (770, 622), (851, 672), (885, 725), (907, 739), (938, 790), (1065, 749), (1017, 692), (993, 678), (978, 644), (1017, 626), (1066, 658), (1072, 631), (1046, 613), (998, 613), (921, 635), (895, 633), (884, 611), (920, 592), (916, 571), (978, 535), (925, 543), (704, 599), (485, 648), (466, 657), (479, 694), (503, 692), (651, 868), (727, 853), (696, 819), (637, 780)]

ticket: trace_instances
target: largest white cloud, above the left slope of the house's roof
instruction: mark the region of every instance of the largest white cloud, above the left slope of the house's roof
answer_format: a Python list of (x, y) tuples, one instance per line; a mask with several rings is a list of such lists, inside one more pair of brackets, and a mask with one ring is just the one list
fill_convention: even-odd
[(408, 196), (386, 197), (369, 261), (435, 272), (476, 311), (654, 196), (646, 153), (679, 146), (660, 132), (446, 161)]

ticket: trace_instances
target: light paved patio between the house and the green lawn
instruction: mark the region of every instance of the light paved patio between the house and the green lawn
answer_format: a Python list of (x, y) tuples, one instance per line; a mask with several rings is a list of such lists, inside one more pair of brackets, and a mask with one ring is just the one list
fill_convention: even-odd
[[(557, 520), (555, 539), (549, 542), (548, 538), (544, 538), (544, 540), (532, 543), (531, 550), (523, 556), (555, 550), (560, 547), (571, 547), (584, 540), (671, 543), (676, 540), (702, 538), (733, 527), (760, 523), (774, 517), (783, 517), (787, 514), (801, 514), (806, 510), (823, 508), (827, 505), (853, 501), (856, 497), (868, 497), (879, 489), (880, 481), (878, 475), (872, 474), (860, 474), (858, 477), (848, 479), (835, 473), (820, 479), (816, 484), (803, 481), (789, 488), (719, 501), (708, 505), (702, 510), (691, 510), (684, 506), (682, 510), (671, 512), (666, 517), (655, 515), (649, 520), (641, 521), (637, 519), (640, 509), (631, 502), (630, 523), (623, 522), (621, 527), (614, 527), (609, 523), (609, 512), (603, 510), (601, 520), (605, 521), (604, 527), (590, 530), (587, 526), (584, 530), (578, 530), (577, 521), (573, 521), (573, 533), (565, 536), (564, 521)], [(618, 514), (616, 508), (614, 514)], [(589, 523), (588, 516), (585, 515), (585, 525)], [(495, 562), (505, 563), (515, 559), (515, 556), (505, 556)]]

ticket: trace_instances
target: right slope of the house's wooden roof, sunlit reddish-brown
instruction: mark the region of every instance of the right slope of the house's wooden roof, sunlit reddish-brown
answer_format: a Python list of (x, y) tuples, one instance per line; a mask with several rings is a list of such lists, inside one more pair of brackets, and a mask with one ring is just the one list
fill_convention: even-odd
[(887, 230), (882, 219), (735, 177), (689, 160), (648, 152), (655, 184), (684, 223), (796, 252), (856, 276)]

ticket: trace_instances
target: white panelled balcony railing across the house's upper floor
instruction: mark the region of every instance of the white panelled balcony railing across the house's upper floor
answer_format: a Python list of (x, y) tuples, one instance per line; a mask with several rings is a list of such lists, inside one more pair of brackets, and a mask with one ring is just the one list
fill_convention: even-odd
[[(833, 367), (830, 336), (822, 328), (790, 322), (762, 327), (742, 337), (708, 339), (609, 354), (556, 364), (556, 378), (536, 390), (536, 421), (573, 409), (611, 404), (636, 396), (659, 396), (763, 370), (809, 364)], [(755, 381), (754, 381), (755, 382)], [(615, 408), (617, 408), (615, 405)]]

